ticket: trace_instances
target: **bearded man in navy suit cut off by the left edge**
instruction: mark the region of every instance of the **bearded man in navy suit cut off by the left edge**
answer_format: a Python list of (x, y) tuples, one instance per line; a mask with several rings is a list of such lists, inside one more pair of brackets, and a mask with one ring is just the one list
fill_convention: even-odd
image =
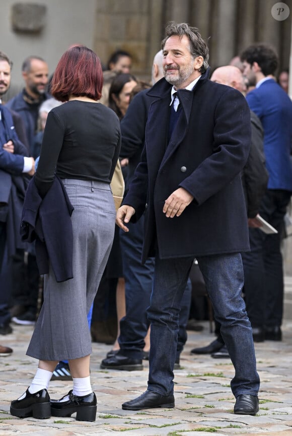
[[(12, 113), (1, 102), (2, 96), (10, 86), (11, 67), (11, 60), (5, 53), (0, 52), (0, 271), (7, 242), (9, 243), (8, 251), (13, 253), (20, 239), (22, 201), (19, 193), (21, 188), (23, 196), (25, 192), (21, 175), (22, 173), (30, 175), (34, 173), (34, 159), (27, 157), (27, 148), (16, 134)], [(12, 332), (9, 325), (8, 297), (7, 290), (2, 283), (0, 287), (0, 334)], [(2, 356), (11, 353), (11, 348), (0, 345)]]

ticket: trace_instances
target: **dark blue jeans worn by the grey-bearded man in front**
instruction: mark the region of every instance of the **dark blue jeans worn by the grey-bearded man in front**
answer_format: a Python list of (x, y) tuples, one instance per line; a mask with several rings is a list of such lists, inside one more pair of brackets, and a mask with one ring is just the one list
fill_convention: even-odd
[[(227, 345), (235, 377), (235, 397), (257, 395), (259, 376), (252, 329), (241, 297), (243, 267), (241, 255), (221, 254), (197, 258), (210, 296), (215, 319)], [(151, 322), (148, 389), (161, 395), (173, 392), (173, 366), (179, 329), (179, 310), (193, 258), (156, 258), (154, 286), (148, 317)]]

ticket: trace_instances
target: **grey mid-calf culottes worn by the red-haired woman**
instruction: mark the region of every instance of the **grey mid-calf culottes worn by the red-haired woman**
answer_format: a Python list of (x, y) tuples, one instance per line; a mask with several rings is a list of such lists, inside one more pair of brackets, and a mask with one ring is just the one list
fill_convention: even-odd
[(107, 183), (64, 179), (74, 211), (74, 278), (57, 283), (44, 276), (44, 301), (27, 355), (39, 360), (78, 359), (92, 353), (87, 314), (93, 304), (115, 228), (115, 206)]

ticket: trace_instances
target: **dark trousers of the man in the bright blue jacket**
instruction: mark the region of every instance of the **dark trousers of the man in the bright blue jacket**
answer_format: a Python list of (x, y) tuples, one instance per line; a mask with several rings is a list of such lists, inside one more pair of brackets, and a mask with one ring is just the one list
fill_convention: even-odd
[(267, 235), (259, 229), (250, 228), (251, 250), (242, 253), (246, 309), (253, 327), (275, 327), (282, 323), (284, 285), (280, 245), (290, 194), (283, 190), (266, 192), (260, 215), (278, 233)]

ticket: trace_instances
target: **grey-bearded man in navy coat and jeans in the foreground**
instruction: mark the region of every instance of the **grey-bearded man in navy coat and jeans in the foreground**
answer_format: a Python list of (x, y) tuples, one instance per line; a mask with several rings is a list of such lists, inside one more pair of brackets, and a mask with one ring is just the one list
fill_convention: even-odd
[(195, 257), (235, 367), (234, 412), (254, 415), (259, 376), (240, 254), (249, 250), (241, 171), (250, 111), (237, 90), (208, 80), (208, 47), (198, 29), (170, 23), (162, 49), (165, 79), (148, 92), (155, 99), (145, 145), (116, 218), (128, 231), (146, 209), (142, 261), (155, 255), (148, 390), (122, 408), (174, 407), (180, 302)]

